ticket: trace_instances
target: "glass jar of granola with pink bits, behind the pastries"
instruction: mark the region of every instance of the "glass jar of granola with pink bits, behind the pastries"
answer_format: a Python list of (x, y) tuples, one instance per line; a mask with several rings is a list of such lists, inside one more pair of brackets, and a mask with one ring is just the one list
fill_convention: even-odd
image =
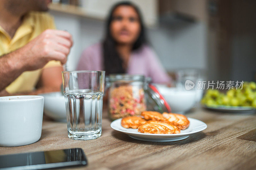
[(109, 75), (108, 115), (111, 120), (126, 116), (140, 115), (146, 110), (145, 77), (142, 75)]

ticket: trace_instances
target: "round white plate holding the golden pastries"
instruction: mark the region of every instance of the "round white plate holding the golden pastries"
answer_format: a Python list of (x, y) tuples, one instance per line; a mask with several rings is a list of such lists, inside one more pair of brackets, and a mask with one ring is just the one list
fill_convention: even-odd
[(200, 132), (207, 128), (207, 125), (197, 119), (188, 118), (190, 125), (188, 129), (181, 130), (179, 134), (150, 134), (150, 133), (140, 133), (138, 129), (127, 129), (121, 126), (121, 120), (117, 119), (113, 121), (110, 126), (119, 132), (127, 134), (129, 137), (138, 140), (151, 141), (151, 142), (171, 142), (186, 139), (189, 135)]

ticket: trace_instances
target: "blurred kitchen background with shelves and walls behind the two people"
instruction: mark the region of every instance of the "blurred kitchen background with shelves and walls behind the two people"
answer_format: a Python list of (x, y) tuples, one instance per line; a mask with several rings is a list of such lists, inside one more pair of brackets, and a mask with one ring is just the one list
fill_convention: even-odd
[[(104, 35), (105, 18), (119, 0), (53, 0), (58, 29), (73, 35), (68, 70), (83, 49)], [(201, 71), (206, 80), (256, 80), (255, 0), (131, 0), (165, 69)]]

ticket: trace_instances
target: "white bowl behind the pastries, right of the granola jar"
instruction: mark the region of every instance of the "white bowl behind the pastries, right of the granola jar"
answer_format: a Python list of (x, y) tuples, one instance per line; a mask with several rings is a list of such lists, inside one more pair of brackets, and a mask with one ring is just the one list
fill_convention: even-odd
[(172, 109), (172, 113), (184, 114), (195, 106), (197, 97), (195, 90), (183, 90), (175, 87), (156, 85)]

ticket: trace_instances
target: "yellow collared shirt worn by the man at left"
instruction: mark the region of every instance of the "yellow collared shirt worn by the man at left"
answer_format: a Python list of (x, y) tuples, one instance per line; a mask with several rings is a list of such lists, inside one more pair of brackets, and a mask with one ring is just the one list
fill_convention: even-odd
[[(55, 24), (53, 18), (45, 12), (28, 13), (13, 38), (0, 26), (0, 56), (23, 47), (46, 29), (55, 29)], [(44, 68), (55, 66), (61, 66), (61, 63), (50, 61)], [(23, 72), (5, 90), (11, 94), (33, 91), (41, 76), (41, 71), (42, 69)]]

